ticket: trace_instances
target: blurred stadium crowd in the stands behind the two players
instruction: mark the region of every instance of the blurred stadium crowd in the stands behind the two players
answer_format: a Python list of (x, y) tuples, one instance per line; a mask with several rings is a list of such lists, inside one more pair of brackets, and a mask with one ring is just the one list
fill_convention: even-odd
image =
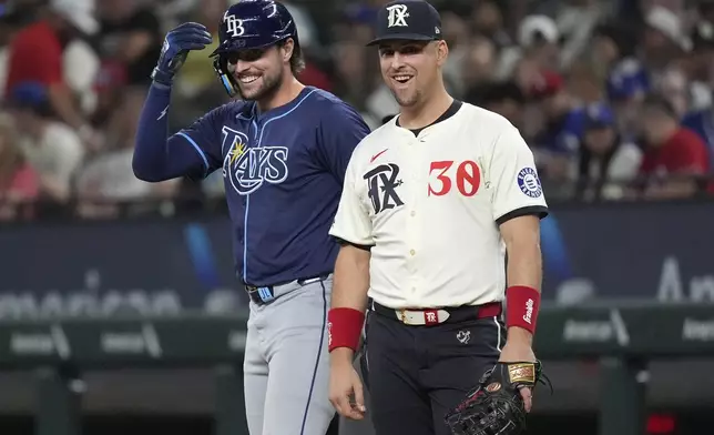
[[(0, 6), (0, 219), (114, 216), (114, 202), (221, 198), (202, 183), (134, 178), (139, 113), (164, 33), (213, 32), (230, 0), (14, 0)], [(300, 80), (376, 128), (397, 112), (366, 49), (384, 0), (286, 0)], [(714, 1), (435, 0), (461, 100), (516, 124), (549, 199), (692, 198), (714, 192)], [(217, 34), (214, 45), (217, 43)], [(176, 131), (227, 101), (192, 52), (172, 95)], [(14, 206), (32, 203), (32, 206)]]

